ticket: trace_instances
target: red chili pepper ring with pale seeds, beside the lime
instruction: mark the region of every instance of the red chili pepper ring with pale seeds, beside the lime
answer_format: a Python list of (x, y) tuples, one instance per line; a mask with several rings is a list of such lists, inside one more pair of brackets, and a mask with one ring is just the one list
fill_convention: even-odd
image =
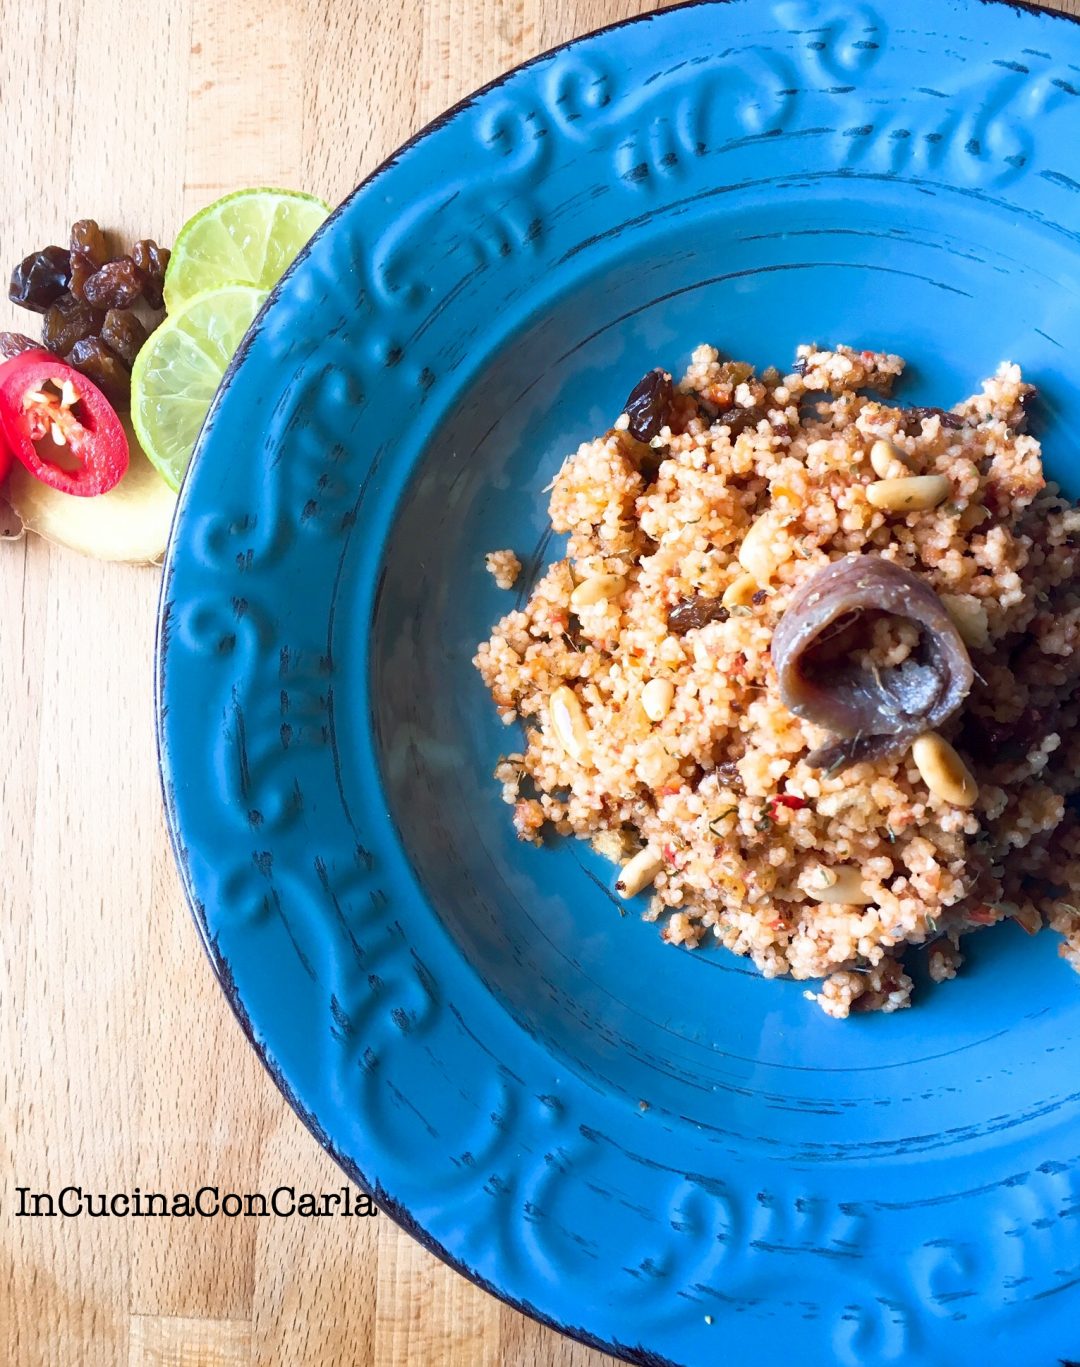
[[(42, 484), (93, 498), (119, 484), (127, 469), (127, 435), (116, 410), (85, 375), (51, 351), (23, 351), (0, 365), (0, 433)], [(52, 437), (72, 469), (46, 459), (34, 446)]]

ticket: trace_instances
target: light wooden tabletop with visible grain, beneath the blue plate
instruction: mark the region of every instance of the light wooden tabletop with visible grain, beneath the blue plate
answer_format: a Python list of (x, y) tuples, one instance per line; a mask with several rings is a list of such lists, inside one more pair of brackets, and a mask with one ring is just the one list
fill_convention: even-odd
[[(12, 0), (0, 265), (63, 241), (82, 215), (170, 241), (241, 185), (340, 198), (506, 67), (647, 8)], [(4, 303), (0, 327), (26, 321)], [(256, 1062), (183, 905), (154, 764), (156, 596), (149, 570), (0, 545), (0, 1362), (610, 1362), (477, 1290), (384, 1217), (12, 1218), (16, 1182), (340, 1185)]]

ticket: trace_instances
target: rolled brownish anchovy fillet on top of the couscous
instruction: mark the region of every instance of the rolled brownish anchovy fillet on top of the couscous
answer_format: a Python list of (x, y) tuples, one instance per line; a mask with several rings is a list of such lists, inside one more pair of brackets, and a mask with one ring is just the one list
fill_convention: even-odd
[[(919, 645), (893, 668), (863, 668), (822, 648), (857, 633), (863, 614), (889, 612), (919, 627)], [(942, 600), (917, 574), (878, 555), (845, 555), (812, 574), (772, 634), (772, 663), (785, 707), (833, 733), (808, 763), (839, 770), (902, 755), (936, 730), (971, 690), (964, 641)]]

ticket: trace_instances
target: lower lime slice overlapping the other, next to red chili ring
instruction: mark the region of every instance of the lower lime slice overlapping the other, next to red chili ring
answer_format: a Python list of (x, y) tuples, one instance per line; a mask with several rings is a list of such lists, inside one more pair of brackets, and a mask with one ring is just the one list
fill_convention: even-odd
[(131, 368), (131, 422), (150, 463), (180, 487), (202, 420), (265, 290), (197, 294), (150, 334)]

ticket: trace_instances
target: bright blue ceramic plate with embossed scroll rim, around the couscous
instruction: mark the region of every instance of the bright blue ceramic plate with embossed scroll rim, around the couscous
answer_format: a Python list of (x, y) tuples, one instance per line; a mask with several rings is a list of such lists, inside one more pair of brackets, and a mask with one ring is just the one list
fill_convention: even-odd
[[(1080, 413), (1080, 27), (979, 0), (731, 0), (582, 38), (338, 211), (183, 489), (161, 766), (215, 968), (312, 1131), (428, 1247), (648, 1363), (1080, 1357), (1080, 980), (979, 935), (913, 1010), (621, 919), (514, 839), (470, 666), (483, 552), (708, 339), (999, 360)], [(1080, 489), (1080, 485), (1073, 485)]]

